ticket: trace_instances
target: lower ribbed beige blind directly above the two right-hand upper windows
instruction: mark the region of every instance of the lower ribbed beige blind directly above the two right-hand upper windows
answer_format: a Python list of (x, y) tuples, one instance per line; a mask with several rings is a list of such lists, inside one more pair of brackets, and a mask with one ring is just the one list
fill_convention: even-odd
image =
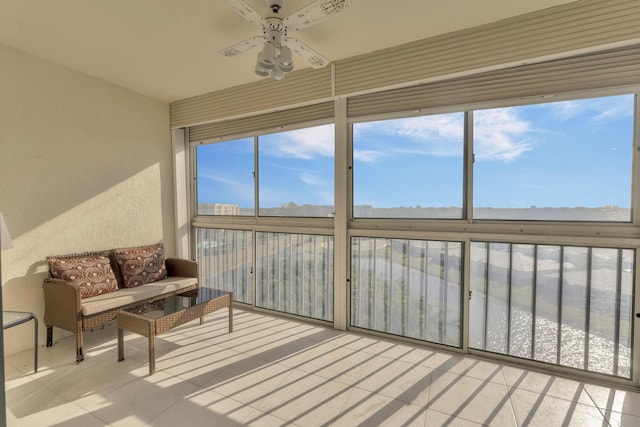
[(349, 117), (640, 84), (640, 45), (352, 97)]

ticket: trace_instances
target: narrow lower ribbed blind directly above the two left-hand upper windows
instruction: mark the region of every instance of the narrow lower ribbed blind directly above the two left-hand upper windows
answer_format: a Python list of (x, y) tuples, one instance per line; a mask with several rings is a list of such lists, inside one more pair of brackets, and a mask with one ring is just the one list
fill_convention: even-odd
[(290, 110), (259, 114), (253, 117), (193, 126), (189, 128), (189, 141), (225, 138), (247, 132), (264, 131), (296, 123), (328, 119), (333, 117), (333, 110), (333, 102), (324, 102)]

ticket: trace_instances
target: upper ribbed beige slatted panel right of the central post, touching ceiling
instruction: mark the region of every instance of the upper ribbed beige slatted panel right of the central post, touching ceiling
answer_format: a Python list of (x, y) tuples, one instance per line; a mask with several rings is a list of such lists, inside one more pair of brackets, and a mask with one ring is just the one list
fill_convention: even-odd
[(640, 1), (583, 0), (337, 61), (348, 96), (640, 43)]

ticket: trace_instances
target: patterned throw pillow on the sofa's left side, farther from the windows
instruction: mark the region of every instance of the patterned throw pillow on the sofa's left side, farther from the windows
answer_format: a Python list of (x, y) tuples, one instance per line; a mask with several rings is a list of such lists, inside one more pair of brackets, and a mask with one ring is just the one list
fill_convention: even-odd
[(66, 280), (78, 287), (80, 298), (89, 298), (118, 290), (118, 281), (106, 256), (49, 258), (54, 279)]

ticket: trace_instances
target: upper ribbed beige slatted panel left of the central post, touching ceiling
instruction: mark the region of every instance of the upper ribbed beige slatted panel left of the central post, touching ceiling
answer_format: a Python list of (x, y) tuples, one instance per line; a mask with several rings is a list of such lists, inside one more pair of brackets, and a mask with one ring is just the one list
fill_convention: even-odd
[(304, 69), (287, 74), (281, 81), (262, 79), (173, 102), (170, 125), (188, 127), (327, 99), (331, 99), (331, 67)]

